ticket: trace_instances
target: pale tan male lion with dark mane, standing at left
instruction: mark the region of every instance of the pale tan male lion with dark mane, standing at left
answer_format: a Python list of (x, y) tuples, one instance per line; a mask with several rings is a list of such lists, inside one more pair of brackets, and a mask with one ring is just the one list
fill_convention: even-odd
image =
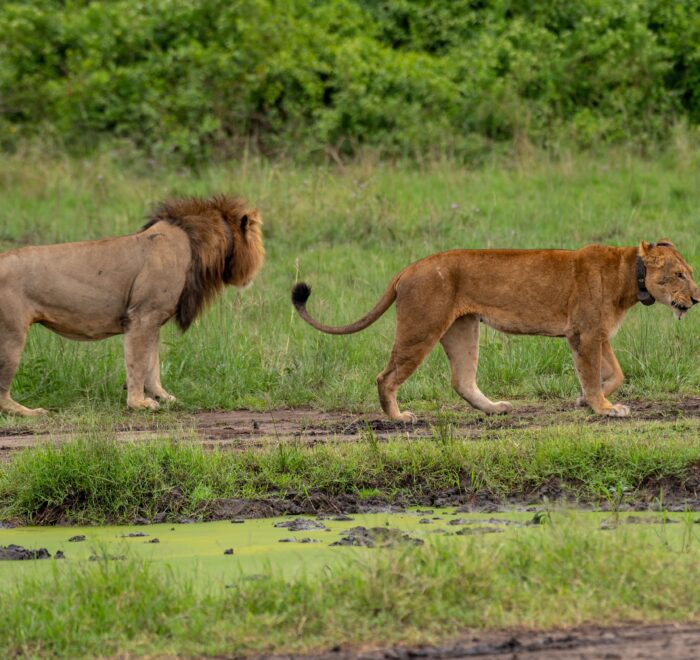
[(186, 331), (224, 285), (253, 280), (265, 257), (261, 225), (240, 198), (181, 198), (135, 234), (0, 254), (0, 411), (46, 412), (10, 396), (33, 323), (83, 341), (123, 334), (127, 405), (174, 401), (160, 382), (160, 328), (174, 318)]

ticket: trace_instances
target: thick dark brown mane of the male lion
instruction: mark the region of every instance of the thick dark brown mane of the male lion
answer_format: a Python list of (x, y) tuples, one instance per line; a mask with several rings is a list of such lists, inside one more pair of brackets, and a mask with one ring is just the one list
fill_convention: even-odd
[(192, 261), (175, 312), (183, 332), (230, 279), (245, 215), (245, 203), (238, 197), (187, 197), (159, 204), (142, 227), (145, 231), (157, 222), (167, 222), (189, 238)]

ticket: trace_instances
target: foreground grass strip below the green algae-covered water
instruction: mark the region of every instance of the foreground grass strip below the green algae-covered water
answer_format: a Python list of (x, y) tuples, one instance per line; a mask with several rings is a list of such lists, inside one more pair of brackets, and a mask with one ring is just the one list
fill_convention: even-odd
[(228, 589), (148, 561), (63, 560), (48, 580), (0, 589), (0, 653), (229, 656), (425, 643), (474, 629), (697, 621), (695, 527), (685, 515), (602, 531), (554, 515), (506, 538), (366, 553), (292, 579), (227, 577)]

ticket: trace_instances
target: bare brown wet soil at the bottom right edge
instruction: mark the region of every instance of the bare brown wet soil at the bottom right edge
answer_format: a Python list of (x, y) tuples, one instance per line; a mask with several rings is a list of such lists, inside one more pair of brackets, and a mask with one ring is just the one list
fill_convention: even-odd
[(635, 660), (700, 657), (700, 626), (630, 625), (541, 632), (488, 632), (444, 646), (353, 650), (336, 647), (313, 656), (264, 656), (275, 660), (408, 660), (409, 658), (541, 658), (554, 660)]

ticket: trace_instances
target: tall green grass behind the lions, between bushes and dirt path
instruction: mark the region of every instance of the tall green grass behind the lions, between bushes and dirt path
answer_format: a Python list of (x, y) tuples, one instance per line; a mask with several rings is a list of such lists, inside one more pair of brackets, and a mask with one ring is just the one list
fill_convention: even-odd
[[(292, 311), (297, 279), (314, 287), (314, 315), (345, 323), (364, 314), (400, 268), (449, 248), (668, 237), (698, 265), (699, 165), (700, 154), (683, 145), (653, 162), (608, 153), (479, 169), (368, 160), (339, 171), (243, 160), (198, 173), (125, 166), (109, 155), (74, 161), (25, 153), (0, 163), (0, 245), (124, 234), (170, 195), (244, 194), (262, 211), (268, 260), (252, 288), (227, 291), (187, 334), (165, 328), (163, 382), (180, 400), (175, 410), (379, 410), (374, 379), (391, 349), (393, 310), (359, 335), (325, 336)], [(678, 323), (660, 305), (633, 309), (614, 340), (627, 376), (618, 398), (697, 392), (697, 323), (694, 313)], [(578, 389), (565, 342), (490, 330), (479, 379), (494, 398), (572, 398)], [(104, 415), (123, 409), (123, 383), (121, 338), (85, 344), (35, 327), (14, 393), (73, 417)], [(457, 404), (441, 349), (400, 400)]]

